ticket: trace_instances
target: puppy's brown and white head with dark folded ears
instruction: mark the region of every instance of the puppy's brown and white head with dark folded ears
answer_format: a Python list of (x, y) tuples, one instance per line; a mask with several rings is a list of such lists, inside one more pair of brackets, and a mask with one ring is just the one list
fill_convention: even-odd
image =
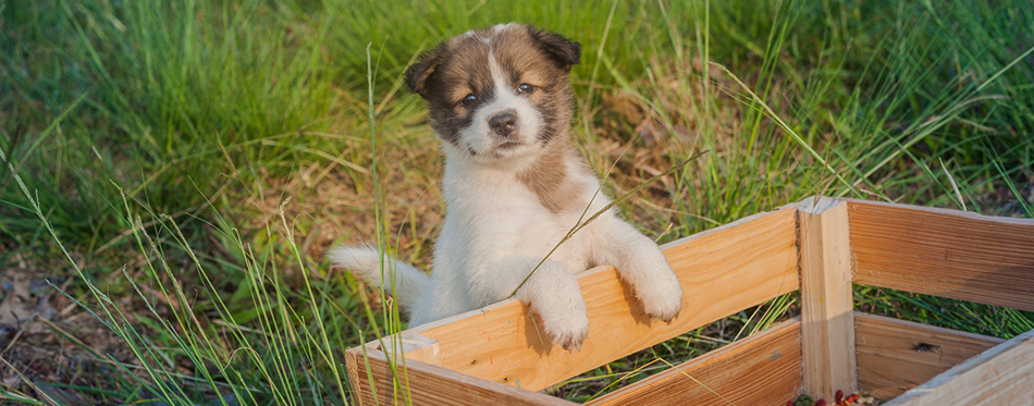
[(406, 72), (428, 100), (431, 126), (480, 162), (527, 156), (566, 134), (568, 73), (580, 45), (531, 26), (471, 30), (441, 44)]

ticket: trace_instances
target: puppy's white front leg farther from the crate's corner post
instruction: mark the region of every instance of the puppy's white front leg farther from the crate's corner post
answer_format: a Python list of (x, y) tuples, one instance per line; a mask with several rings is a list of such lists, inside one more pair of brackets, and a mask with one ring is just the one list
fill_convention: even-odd
[[(493, 270), (496, 279), (491, 286), (479, 287), (505, 298), (540, 261), (532, 257), (509, 257)], [(578, 280), (567, 266), (545, 260), (517, 291), (516, 297), (539, 315), (543, 330), (554, 344), (570, 352), (581, 349), (581, 343), (589, 335), (589, 318)]]

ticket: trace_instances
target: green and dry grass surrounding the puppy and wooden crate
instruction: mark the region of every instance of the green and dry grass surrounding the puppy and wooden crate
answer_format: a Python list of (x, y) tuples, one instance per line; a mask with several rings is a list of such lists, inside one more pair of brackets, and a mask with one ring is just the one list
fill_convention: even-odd
[[(322, 251), (376, 239), (428, 268), (441, 161), (402, 72), (501, 16), (582, 42), (573, 135), (615, 168), (611, 195), (709, 151), (620, 202), (662, 242), (818, 193), (1034, 218), (1021, 1), (0, 1), (0, 279), (62, 292), (59, 316), (2, 339), (0, 369), (24, 376), (4, 399), (346, 402), (341, 350), (403, 324)], [(557, 393), (589, 398), (795, 300)], [(997, 336), (1034, 320), (866, 286), (855, 300)]]

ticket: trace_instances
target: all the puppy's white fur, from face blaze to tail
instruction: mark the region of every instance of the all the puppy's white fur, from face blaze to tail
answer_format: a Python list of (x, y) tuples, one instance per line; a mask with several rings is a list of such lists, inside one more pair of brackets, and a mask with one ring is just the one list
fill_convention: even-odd
[[(495, 27), (493, 32), (506, 28)], [(610, 201), (598, 193), (599, 180), (580, 162), (564, 165), (566, 180), (583, 185), (575, 197), (580, 205), (577, 210), (551, 211), (517, 180), (516, 173), (544, 150), (536, 139), (541, 113), (506, 85), (497, 65), (492, 74), (496, 99), (477, 113), (473, 124), (463, 132), (459, 147), (443, 143), (443, 192), (448, 213), (434, 246), (433, 275), (428, 280), (409, 266), (390, 262), (395, 268), (399, 300), (413, 309), (410, 325), (505, 299), (540, 262), (516, 296), (531, 306), (553, 342), (565, 348), (580, 348), (589, 332), (575, 274), (592, 266), (615, 266), (632, 285), (647, 315), (662, 320), (676, 317), (682, 291), (670, 266), (652, 239), (613, 209), (546, 258), (568, 231), (584, 220), (582, 216), (592, 216)], [(490, 153), (497, 146), (497, 137), (491, 135), (488, 120), (507, 109), (517, 112), (521, 145)], [(471, 156), (466, 148), (478, 153)], [(360, 271), (362, 278), (384, 281), (372, 248), (341, 247), (332, 250), (330, 258), (335, 266)]]

